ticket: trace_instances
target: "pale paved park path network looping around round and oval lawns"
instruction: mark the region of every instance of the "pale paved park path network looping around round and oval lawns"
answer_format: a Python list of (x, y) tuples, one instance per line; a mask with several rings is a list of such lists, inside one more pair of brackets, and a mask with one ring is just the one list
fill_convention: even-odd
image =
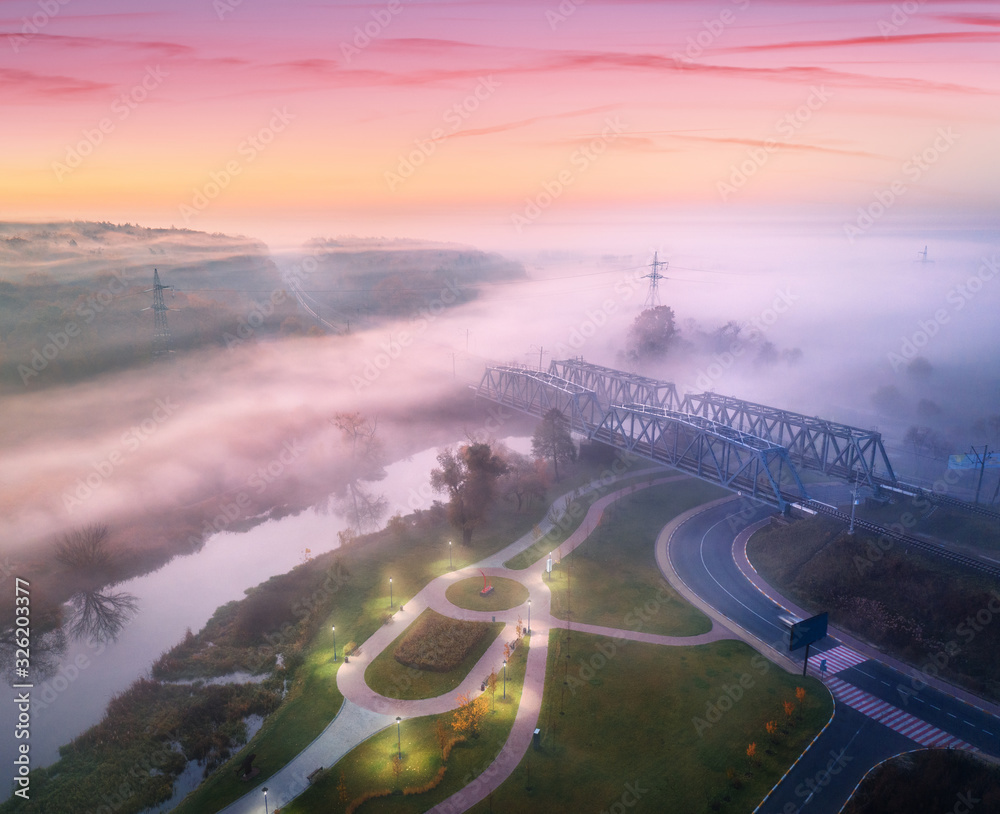
[[(545, 686), (548, 634), (552, 628), (570, 626), (569, 622), (555, 618), (551, 614), (552, 594), (545, 580), (548, 559), (545, 550), (548, 544), (544, 542), (546, 535), (558, 527), (574, 498), (589, 492), (606, 490), (619, 480), (643, 475), (649, 476), (649, 480), (646, 482), (637, 482), (626, 486), (594, 501), (576, 530), (563, 543), (552, 549), (553, 563), (561, 562), (562, 557), (568, 555), (590, 536), (593, 529), (597, 527), (605, 509), (614, 501), (632, 494), (638, 489), (686, 478), (683, 475), (653, 477), (661, 472), (661, 469), (646, 469), (627, 473), (611, 479), (605, 478), (603, 481), (593, 481), (588, 486), (579, 487), (566, 493), (553, 501), (552, 508), (545, 519), (531, 532), (523, 535), (501, 551), (485, 557), (473, 565), (443, 574), (424, 586), (421, 591), (396, 611), (393, 616), (395, 621), (379, 628), (362, 643), (358, 655), (351, 656), (349, 663), (340, 666), (337, 671), (337, 687), (344, 696), (344, 705), (326, 729), (280, 771), (240, 799), (221, 809), (221, 812), (223, 814), (258, 814), (265, 786), (268, 789), (267, 799), (271, 810), (280, 808), (309, 787), (310, 774), (318, 768), (334, 765), (340, 758), (369, 737), (395, 723), (397, 716), (406, 720), (447, 712), (457, 707), (456, 698), (460, 694), (467, 694), (470, 698), (478, 695), (483, 679), (492, 670), (498, 669), (502, 665), (504, 643), (515, 638), (517, 618), (520, 616), (525, 623), (528, 622), (529, 618), (528, 600), (515, 608), (497, 612), (467, 610), (448, 601), (445, 593), (451, 585), (469, 577), (477, 577), (480, 571), (488, 576), (504, 576), (515, 579), (528, 588), (531, 603), (532, 644), (528, 650), (521, 701), (510, 735), (496, 759), (488, 767), (484, 767), (484, 771), (471, 783), (430, 811), (438, 812), (438, 814), (453, 814), (464, 811), (485, 799), (491, 791), (510, 776), (531, 746), (532, 735), (538, 724)], [(511, 557), (533, 545), (541, 546), (539, 548), (540, 558), (533, 565), (523, 570), (513, 570), (503, 565)], [(438, 613), (456, 619), (490, 621), (495, 618), (497, 621), (504, 622), (505, 626), (501, 635), (483, 654), (469, 675), (451, 692), (434, 698), (414, 701), (387, 698), (376, 693), (365, 683), (365, 670), (372, 660), (395, 640), (406, 625), (416, 619), (426, 608), (432, 608)], [(403, 624), (399, 625), (396, 623), (397, 621)], [(598, 625), (573, 624), (572, 627), (574, 630), (596, 633), (620, 640), (678, 646), (704, 644), (733, 637), (726, 628), (714, 622), (708, 633), (698, 636), (660, 636)]]

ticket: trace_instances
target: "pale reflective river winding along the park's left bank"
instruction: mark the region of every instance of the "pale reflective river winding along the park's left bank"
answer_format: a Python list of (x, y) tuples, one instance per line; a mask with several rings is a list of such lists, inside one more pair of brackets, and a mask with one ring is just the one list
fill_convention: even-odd
[[(520, 452), (530, 449), (527, 438), (504, 442)], [(386, 517), (425, 508), (438, 497), (430, 492), (428, 482), (440, 448), (425, 449), (386, 466), (386, 477), (371, 484), (373, 491), (386, 498)], [(337, 533), (346, 526), (341, 516), (308, 509), (249, 531), (213, 535), (196, 553), (175, 557), (157, 571), (114, 586), (113, 592), (131, 594), (138, 604), (117, 639), (107, 644), (93, 639), (69, 641), (58, 672), (31, 690), (31, 767), (55, 762), (59, 746), (100, 721), (108, 701), (148, 675), (152, 663), (189, 628), (197, 632), (220, 605), (242, 598), (247, 588), (303, 562), (307, 549), (308, 555), (317, 556), (337, 548)], [(13, 733), (17, 723), (17, 692), (9, 690), (10, 702), (0, 709), (0, 730), (6, 733)], [(14, 776), (20, 742), (13, 736), (0, 738), (5, 788), (10, 788)]]

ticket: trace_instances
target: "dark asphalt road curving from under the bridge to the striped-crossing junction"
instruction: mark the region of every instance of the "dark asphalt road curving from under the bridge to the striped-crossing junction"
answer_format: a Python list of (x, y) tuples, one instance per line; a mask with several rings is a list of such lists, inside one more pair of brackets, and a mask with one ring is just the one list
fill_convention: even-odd
[[(745, 557), (746, 540), (773, 514), (734, 498), (687, 512), (661, 533), (657, 560), (667, 579), (715, 621), (801, 672), (803, 651), (793, 654), (797, 661), (789, 658), (778, 617), (808, 614), (778, 596)], [(839, 631), (831, 628), (813, 645), (809, 665), (837, 701), (834, 717), (761, 804), (762, 814), (835, 814), (872, 766), (900, 752), (940, 746), (1000, 757), (995, 707), (944, 682), (914, 680), (912, 668)]]

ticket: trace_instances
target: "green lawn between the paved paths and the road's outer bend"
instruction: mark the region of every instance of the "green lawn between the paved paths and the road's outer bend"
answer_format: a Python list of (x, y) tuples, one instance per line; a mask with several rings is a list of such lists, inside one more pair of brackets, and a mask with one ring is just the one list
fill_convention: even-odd
[(711, 630), (709, 618), (663, 579), (654, 552), (669, 520), (725, 494), (691, 478), (639, 489), (609, 506), (587, 540), (554, 564), (553, 615), (667, 636)]

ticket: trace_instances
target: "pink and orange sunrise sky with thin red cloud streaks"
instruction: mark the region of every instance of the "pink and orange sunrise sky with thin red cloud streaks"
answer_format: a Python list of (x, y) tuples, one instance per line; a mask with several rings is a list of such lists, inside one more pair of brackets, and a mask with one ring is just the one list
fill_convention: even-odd
[(0, 0), (0, 219), (512, 249), (995, 222), (998, 41), (950, 0)]

